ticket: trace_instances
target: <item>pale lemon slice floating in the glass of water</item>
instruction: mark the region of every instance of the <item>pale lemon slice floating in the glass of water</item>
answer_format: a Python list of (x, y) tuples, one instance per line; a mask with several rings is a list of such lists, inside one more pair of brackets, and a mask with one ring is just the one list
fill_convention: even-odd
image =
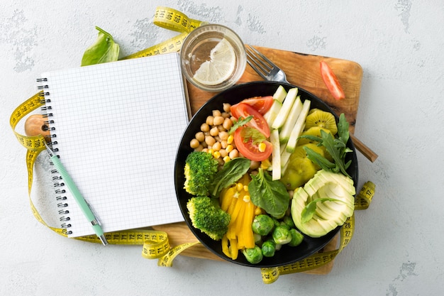
[(217, 85), (228, 80), (235, 69), (233, 46), (223, 38), (210, 52), (210, 60), (201, 64), (194, 73), (194, 80), (201, 84)]

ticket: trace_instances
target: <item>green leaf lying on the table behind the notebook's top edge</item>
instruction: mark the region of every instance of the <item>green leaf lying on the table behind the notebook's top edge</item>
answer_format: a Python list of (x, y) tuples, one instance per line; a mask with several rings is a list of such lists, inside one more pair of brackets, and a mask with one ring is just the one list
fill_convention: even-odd
[(83, 54), (81, 66), (96, 65), (102, 62), (114, 62), (118, 59), (119, 46), (113, 36), (99, 27), (96, 43), (91, 45)]

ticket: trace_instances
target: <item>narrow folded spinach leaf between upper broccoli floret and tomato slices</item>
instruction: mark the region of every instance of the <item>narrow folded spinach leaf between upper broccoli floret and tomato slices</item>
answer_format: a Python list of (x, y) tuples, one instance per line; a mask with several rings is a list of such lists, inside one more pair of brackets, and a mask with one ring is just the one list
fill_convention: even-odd
[(240, 179), (250, 168), (251, 160), (247, 158), (233, 158), (223, 165), (210, 184), (211, 197), (218, 198), (223, 188), (233, 185)]

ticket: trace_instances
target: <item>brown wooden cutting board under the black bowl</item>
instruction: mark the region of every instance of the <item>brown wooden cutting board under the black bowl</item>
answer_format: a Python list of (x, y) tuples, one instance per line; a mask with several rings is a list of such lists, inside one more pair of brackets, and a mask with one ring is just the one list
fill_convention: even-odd
[[(272, 48), (262, 48), (255, 46), (266, 57), (270, 58), (278, 67), (287, 74), (287, 80), (298, 87), (305, 89), (308, 92), (315, 94), (317, 97), (326, 102), (328, 106), (335, 111), (336, 114), (344, 113), (350, 124), (350, 132), (355, 130), (357, 107), (359, 104), (359, 96), (362, 81), (362, 67), (356, 62), (350, 60), (341, 60), (333, 57), (321, 57), (318, 55), (306, 55), (301, 53), (293, 53), (286, 50), (277, 50)], [(321, 74), (319, 62), (326, 60), (333, 72), (338, 76), (338, 80), (345, 92), (345, 99), (335, 100), (328, 92), (324, 84)], [(240, 83), (260, 81), (262, 77), (252, 70), (247, 65)], [(194, 85), (187, 83), (192, 114), (196, 111), (215, 93), (204, 92), (197, 89)], [(165, 231), (170, 239), (171, 246), (177, 246), (181, 243), (189, 243), (198, 241), (196, 236), (192, 234), (185, 222), (167, 224), (160, 226), (153, 226), (153, 229)], [(323, 251), (332, 251), (337, 248), (338, 236), (328, 243)], [(188, 248), (182, 253), (184, 256), (192, 256), (196, 258), (205, 258), (217, 261), (223, 261), (215, 254), (211, 253), (203, 245), (198, 244), (192, 248)], [(228, 263), (228, 261), (226, 261)], [(333, 268), (333, 261), (327, 265), (323, 265), (315, 270), (306, 273), (311, 274), (326, 274)]]

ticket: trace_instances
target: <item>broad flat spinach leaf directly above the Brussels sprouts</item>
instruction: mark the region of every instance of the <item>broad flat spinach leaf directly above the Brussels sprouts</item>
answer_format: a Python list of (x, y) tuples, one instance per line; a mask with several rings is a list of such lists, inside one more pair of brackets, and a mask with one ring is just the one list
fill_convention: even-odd
[(279, 180), (272, 180), (272, 176), (261, 168), (257, 175), (251, 177), (248, 192), (250, 192), (252, 203), (272, 216), (283, 216), (290, 201), (290, 195), (285, 185)]

